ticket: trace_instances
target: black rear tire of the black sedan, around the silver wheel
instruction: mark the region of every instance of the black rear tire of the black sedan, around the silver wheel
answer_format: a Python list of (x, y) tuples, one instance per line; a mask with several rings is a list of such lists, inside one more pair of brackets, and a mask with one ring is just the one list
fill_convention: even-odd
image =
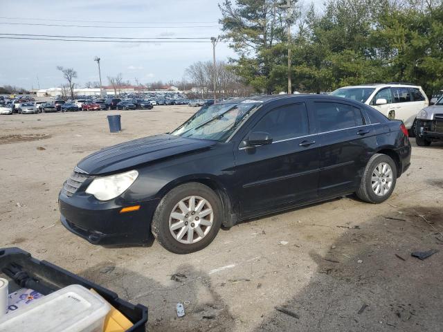
[[(378, 177), (375, 172), (377, 170), (383, 169), (383, 167), (380, 168), (380, 165), (388, 165), (390, 168), (390, 172), (385, 171), (385, 176)], [(377, 167), (379, 168), (377, 169)], [(379, 172), (379, 174), (380, 173), (381, 172)], [(374, 181), (373, 183), (373, 175), (375, 175), (374, 178), (378, 177), (381, 181), (378, 185), (377, 181)], [(388, 185), (389, 182), (391, 183), (390, 186)], [(374, 154), (374, 156), (370, 158), (368, 164), (365, 167), (365, 171), (363, 172), (363, 176), (361, 177), (360, 187), (356, 191), (356, 195), (359, 197), (359, 199), (368, 203), (382, 203), (390, 197), (390, 195), (394, 191), (396, 182), (397, 165), (395, 165), (394, 160), (392, 160), (392, 158), (390, 158), (390, 156), (387, 156), (386, 154)], [(374, 189), (372, 189), (373, 186)], [(377, 190), (379, 191), (378, 194), (376, 193)]]

